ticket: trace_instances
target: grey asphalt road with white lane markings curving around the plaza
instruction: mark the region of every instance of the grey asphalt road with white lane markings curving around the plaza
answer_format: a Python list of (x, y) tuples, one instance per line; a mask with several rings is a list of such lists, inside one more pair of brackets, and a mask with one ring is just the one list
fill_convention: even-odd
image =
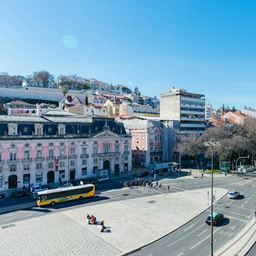
[[(102, 188), (113, 186), (122, 187), (124, 181), (131, 180), (131, 177), (116, 178), (109, 182), (100, 183)], [(210, 179), (186, 179), (161, 181), (163, 185), (170, 185), (171, 193), (184, 190), (194, 190), (199, 188), (210, 187)], [(164, 186), (163, 186), (164, 187)], [(255, 177), (247, 175), (243, 177), (227, 177), (214, 179), (214, 187), (222, 187), (228, 190), (237, 190), (241, 193), (238, 199), (223, 197), (219, 202), (214, 204), (214, 212), (221, 212), (225, 219), (214, 227), (214, 251), (225, 245), (229, 239), (239, 233), (247, 222), (252, 218), (255, 193)], [(210, 191), (210, 188), (209, 188)], [(164, 188), (163, 193), (166, 192)], [(25, 219), (36, 218), (45, 214), (62, 212), (70, 209), (77, 209), (86, 205), (104, 204), (111, 201), (122, 201), (131, 198), (145, 197), (159, 194), (157, 188), (145, 189), (129, 188), (127, 190), (110, 191), (99, 194), (93, 198), (84, 201), (76, 201), (55, 205), (52, 207), (29, 207), (27, 209), (4, 213), (0, 215), (0, 226), (9, 225)], [(189, 198), (188, 198), (189, 199)], [(210, 209), (200, 214), (186, 225), (175, 230), (173, 233), (159, 239), (158, 241), (143, 247), (141, 250), (134, 252), (132, 255), (155, 256), (186, 256), (210, 255), (210, 226), (205, 224), (205, 217), (210, 214)], [(161, 228), (161, 227), (159, 227)], [(255, 254), (254, 254), (255, 255)]]

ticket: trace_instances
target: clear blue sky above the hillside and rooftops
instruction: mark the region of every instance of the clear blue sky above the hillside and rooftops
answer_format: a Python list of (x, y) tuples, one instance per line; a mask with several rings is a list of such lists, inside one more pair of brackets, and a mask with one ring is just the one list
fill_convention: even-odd
[(0, 71), (77, 74), (256, 108), (256, 1), (0, 0)]

